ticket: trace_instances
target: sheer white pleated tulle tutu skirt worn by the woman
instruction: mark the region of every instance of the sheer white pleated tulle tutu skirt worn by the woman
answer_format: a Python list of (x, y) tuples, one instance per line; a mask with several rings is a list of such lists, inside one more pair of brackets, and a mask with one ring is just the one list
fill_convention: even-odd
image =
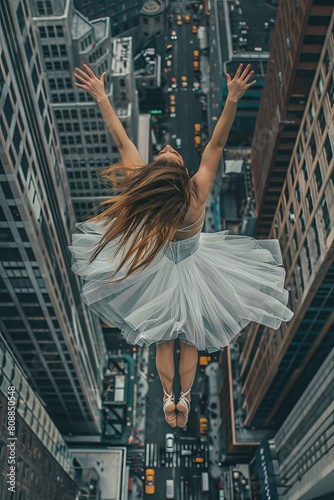
[[(179, 338), (214, 352), (230, 344), (251, 321), (278, 329), (290, 321), (285, 270), (277, 240), (255, 240), (228, 231), (199, 233), (171, 242), (143, 271), (119, 283), (119, 240), (88, 260), (103, 235), (102, 223), (85, 223), (72, 235), (72, 271), (86, 281), (81, 297), (133, 345)], [(131, 242), (129, 242), (131, 244)]]

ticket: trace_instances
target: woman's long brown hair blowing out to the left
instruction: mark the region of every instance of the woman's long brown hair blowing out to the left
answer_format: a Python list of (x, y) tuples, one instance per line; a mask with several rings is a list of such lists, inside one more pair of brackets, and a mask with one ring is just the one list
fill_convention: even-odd
[(143, 166), (119, 162), (98, 175), (121, 193), (100, 203), (99, 206), (110, 206), (82, 223), (104, 221), (106, 227), (89, 264), (111, 240), (119, 237), (113, 255), (124, 251), (115, 274), (131, 261), (126, 275), (116, 280), (121, 281), (146, 267), (172, 239), (188, 211), (192, 188), (187, 170), (164, 159)]

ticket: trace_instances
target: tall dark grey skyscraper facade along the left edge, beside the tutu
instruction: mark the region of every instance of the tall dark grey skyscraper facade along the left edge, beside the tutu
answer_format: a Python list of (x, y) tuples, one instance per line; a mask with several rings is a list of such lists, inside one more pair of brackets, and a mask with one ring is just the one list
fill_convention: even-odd
[(0, 16), (1, 330), (60, 431), (98, 434), (105, 344), (69, 273), (75, 218), (38, 32), (28, 1)]

